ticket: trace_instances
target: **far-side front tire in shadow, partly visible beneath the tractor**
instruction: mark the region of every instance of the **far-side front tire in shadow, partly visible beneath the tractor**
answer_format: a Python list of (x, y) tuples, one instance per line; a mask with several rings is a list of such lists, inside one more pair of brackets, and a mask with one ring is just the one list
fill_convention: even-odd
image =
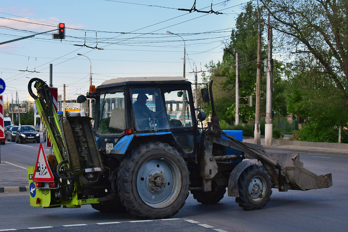
[(224, 194), (226, 193), (226, 186), (216, 187), (214, 191), (203, 192), (202, 190), (191, 190), (193, 198), (195, 198), (199, 203), (204, 205), (216, 204), (221, 201)]

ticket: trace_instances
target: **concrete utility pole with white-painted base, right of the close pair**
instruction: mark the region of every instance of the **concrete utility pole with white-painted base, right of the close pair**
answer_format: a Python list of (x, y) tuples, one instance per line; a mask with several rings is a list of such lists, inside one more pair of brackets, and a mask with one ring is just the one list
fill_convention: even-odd
[[(265, 62), (266, 63), (266, 62)], [(272, 146), (273, 138), (273, 123), (272, 123), (272, 83), (273, 83), (273, 59), (272, 59), (272, 27), (269, 26), (269, 14), (268, 14), (268, 59), (267, 66), (265, 66), (267, 72), (266, 83), (266, 121), (264, 130), (264, 145)]]

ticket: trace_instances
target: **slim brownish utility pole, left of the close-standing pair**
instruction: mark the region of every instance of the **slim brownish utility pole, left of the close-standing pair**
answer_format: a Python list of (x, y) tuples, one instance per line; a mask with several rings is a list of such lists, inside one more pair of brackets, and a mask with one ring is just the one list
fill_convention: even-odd
[(255, 130), (254, 130), (254, 143), (261, 144), (261, 131), (260, 131), (260, 105), (261, 105), (261, 25), (259, 16), (259, 33), (258, 33), (258, 63), (256, 73), (256, 110), (255, 110)]

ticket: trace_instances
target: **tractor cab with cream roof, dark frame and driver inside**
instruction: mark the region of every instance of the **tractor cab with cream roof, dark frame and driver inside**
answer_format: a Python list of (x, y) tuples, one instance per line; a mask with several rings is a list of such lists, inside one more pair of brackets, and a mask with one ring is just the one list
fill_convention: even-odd
[(104, 81), (87, 95), (95, 99), (98, 148), (124, 154), (124, 143), (139, 144), (157, 136), (161, 142), (175, 146), (184, 157), (195, 156), (197, 119), (191, 85), (182, 77)]

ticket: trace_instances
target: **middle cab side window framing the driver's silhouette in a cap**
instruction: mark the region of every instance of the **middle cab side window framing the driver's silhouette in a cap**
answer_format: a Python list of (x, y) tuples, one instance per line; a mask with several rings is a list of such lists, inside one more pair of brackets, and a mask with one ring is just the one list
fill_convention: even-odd
[(169, 129), (168, 114), (160, 89), (130, 89), (136, 130)]

